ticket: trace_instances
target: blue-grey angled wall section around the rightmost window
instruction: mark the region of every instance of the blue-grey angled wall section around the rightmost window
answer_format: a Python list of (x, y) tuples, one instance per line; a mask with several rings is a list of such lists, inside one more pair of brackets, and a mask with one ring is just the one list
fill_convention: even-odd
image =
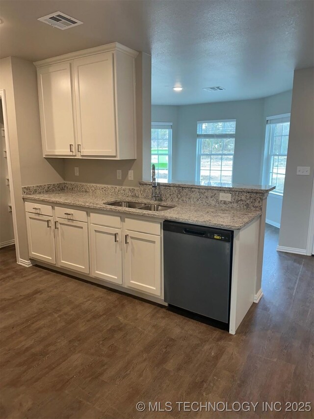
[[(279, 93), (277, 95), (268, 96), (264, 99), (264, 135), (266, 133), (266, 117), (281, 115), (283, 113), (291, 112), (292, 90)], [(263, 172), (262, 183), (268, 183), (268, 172)], [(280, 227), (281, 211), (282, 211), (282, 196), (269, 194), (267, 199), (266, 209), (266, 223)]]

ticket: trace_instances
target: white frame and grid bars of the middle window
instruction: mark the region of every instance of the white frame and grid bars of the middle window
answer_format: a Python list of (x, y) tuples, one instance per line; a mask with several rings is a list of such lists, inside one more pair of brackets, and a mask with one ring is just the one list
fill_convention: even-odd
[[(205, 120), (205, 121), (197, 121), (196, 123), (196, 137), (197, 137), (197, 145), (196, 145), (196, 173), (195, 173), (195, 180), (196, 183), (201, 182), (201, 159), (202, 156), (233, 156), (233, 162), (232, 162), (232, 171), (231, 171), (231, 182), (233, 182), (233, 176), (234, 176), (234, 156), (235, 156), (235, 150), (233, 153), (202, 153), (202, 141), (203, 139), (214, 139), (214, 138), (234, 138), (235, 139), (235, 133), (234, 134), (197, 134), (197, 126), (198, 124), (212, 124), (215, 122), (235, 122), (235, 130), (236, 130), (236, 119), (212, 119), (212, 120)], [(221, 172), (220, 170), (220, 180), (221, 180)], [(229, 183), (229, 182), (214, 182), (214, 183)]]

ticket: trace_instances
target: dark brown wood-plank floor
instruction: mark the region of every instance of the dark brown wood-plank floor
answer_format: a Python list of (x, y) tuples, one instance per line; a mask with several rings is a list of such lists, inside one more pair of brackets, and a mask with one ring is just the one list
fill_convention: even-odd
[[(264, 296), (234, 336), (1, 250), (0, 418), (313, 418), (314, 258), (277, 241), (267, 226)], [(141, 413), (139, 401), (174, 409)], [(259, 405), (179, 412), (180, 401)]]

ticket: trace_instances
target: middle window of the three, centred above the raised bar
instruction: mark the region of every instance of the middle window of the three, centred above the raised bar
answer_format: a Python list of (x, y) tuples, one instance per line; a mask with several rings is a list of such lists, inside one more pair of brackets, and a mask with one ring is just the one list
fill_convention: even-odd
[(231, 183), (235, 152), (235, 120), (197, 123), (196, 181)]

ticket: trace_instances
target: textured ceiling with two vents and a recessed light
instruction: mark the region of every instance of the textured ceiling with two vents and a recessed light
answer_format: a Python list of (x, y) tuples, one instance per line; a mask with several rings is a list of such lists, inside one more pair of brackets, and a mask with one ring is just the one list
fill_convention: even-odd
[[(31, 61), (120, 42), (152, 55), (152, 101), (252, 99), (292, 88), (313, 66), (312, 0), (1, 0), (0, 56)], [(37, 21), (61, 11), (84, 22)], [(182, 92), (174, 92), (176, 84)], [(203, 87), (226, 90), (206, 92)]]

